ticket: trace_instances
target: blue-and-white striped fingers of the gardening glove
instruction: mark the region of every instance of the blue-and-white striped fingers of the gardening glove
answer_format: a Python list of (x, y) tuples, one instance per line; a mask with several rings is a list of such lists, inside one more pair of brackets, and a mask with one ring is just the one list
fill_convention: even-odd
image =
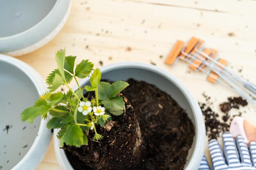
[[(234, 139), (229, 132), (223, 133), (222, 141), (225, 156), (216, 139), (209, 142), (213, 170), (256, 170), (255, 141), (248, 148), (243, 137)], [(211, 170), (205, 156), (199, 170)]]

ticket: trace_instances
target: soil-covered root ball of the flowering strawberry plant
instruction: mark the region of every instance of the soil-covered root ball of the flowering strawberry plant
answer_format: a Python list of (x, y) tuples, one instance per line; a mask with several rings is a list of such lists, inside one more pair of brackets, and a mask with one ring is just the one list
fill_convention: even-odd
[[(75, 159), (79, 158), (83, 166), (86, 164), (95, 170), (124, 170), (137, 167), (141, 161), (143, 149), (141, 131), (134, 108), (128, 99), (121, 94), (119, 96), (124, 98), (125, 111), (122, 115), (112, 116), (112, 120), (108, 121), (103, 128), (96, 127), (97, 132), (104, 136), (102, 140), (98, 142), (90, 140), (94, 136), (94, 132), (90, 130), (88, 146), (76, 148), (64, 145), (63, 148), (76, 156)], [(90, 100), (94, 96), (89, 93), (85, 97)]]

